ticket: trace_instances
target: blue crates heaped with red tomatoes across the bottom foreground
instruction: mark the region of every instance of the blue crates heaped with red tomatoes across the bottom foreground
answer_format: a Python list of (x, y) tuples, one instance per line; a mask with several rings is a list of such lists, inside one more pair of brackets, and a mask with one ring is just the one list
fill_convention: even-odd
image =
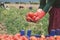
[(27, 31), (27, 35), (24, 30), (15, 35), (0, 34), (0, 40), (60, 40), (60, 32), (51, 31), (50, 34), (44, 35), (31, 35), (31, 30)]

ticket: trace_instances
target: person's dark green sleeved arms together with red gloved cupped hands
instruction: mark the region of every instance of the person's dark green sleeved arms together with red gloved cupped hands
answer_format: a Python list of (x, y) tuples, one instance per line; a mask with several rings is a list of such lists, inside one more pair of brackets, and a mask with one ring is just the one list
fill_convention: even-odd
[[(40, 1), (40, 8), (34, 13), (33, 17), (28, 16), (28, 20), (30, 22), (37, 22), (41, 18), (45, 16), (45, 14), (48, 12), (49, 8), (54, 4), (55, 0), (48, 0), (46, 3), (46, 0), (41, 0)], [(45, 5), (46, 3), (46, 5)], [(32, 14), (32, 13), (31, 13)]]

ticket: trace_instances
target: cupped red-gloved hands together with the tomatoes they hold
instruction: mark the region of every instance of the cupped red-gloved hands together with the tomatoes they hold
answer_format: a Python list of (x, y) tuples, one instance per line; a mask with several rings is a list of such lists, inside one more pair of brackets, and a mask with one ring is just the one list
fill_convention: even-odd
[(42, 9), (38, 9), (37, 12), (29, 12), (26, 16), (28, 22), (37, 22), (45, 15), (45, 12)]

